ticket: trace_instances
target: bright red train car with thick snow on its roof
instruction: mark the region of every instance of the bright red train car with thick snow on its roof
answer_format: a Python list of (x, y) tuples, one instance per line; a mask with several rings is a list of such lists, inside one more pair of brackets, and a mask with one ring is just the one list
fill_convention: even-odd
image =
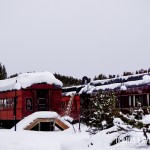
[[(14, 99), (16, 116), (14, 118)], [(0, 81), (0, 126), (10, 128), (36, 111), (61, 114), (62, 83), (51, 73), (26, 73)]]

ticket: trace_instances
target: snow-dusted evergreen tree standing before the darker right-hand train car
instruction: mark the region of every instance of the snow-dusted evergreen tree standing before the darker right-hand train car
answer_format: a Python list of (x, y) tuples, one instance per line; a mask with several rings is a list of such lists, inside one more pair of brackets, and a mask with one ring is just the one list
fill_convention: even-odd
[(113, 110), (115, 110), (116, 101), (117, 98), (113, 92), (99, 92), (95, 97), (85, 100), (88, 108), (83, 108), (81, 119), (90, 127), (90, 132), (102, 130), (103, 121), (106, 122), (106, 128), (113, 126)]

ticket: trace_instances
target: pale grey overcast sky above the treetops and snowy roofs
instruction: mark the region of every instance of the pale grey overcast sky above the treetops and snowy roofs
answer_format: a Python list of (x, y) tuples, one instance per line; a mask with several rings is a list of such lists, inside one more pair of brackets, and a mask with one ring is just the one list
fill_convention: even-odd
[(0, 0), (8, 75), (76, 78), (150, 67), (150, 0)]

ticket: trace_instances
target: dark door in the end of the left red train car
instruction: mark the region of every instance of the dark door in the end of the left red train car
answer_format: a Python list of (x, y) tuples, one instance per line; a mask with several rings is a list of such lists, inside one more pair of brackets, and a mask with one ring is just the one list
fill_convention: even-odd
[(47, 90), (37, 90), (37, 109), (38, 111), (48, 110)]

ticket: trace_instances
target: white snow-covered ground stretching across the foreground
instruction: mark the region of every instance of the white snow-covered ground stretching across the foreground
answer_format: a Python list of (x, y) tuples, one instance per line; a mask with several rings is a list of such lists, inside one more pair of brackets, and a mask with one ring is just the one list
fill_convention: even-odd
[(150, 148), (146, 145), (145, 137), (140, 130), (135, 129), (128, 133), (131, 136), (130, 141), (110, 146), (110, 143), (121, 134), (121, 132), (111, 133), (117, 131), (117, 126), (100, 131), (96, 135), (89, 135), (86, 129), (81, 125), (79, 132), (78, 124), (75, 125), (76, 132), (73, 128), (57, 132), (23, 130), (15, 132), (1, 129), (0, 150), (147, 150)]

